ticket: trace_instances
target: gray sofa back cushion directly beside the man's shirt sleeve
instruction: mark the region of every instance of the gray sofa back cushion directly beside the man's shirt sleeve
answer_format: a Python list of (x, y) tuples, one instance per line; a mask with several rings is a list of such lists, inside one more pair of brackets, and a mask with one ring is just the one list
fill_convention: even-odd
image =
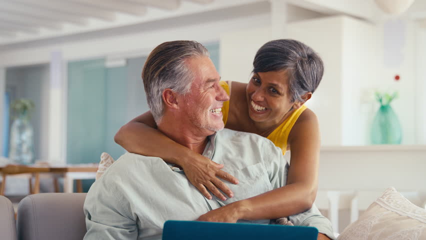
[(83, 212), (85, 196), (86, 193), (40, 193), (26, 196), (18, 206), (18, 239), (83, 239), (86, 233)]

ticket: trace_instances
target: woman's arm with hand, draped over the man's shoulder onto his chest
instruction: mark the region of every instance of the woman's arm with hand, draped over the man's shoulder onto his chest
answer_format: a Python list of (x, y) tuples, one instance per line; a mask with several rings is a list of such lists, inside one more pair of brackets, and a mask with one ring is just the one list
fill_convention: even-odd
[(234, 184), (238, 180), (220, 170), (223, 164), (217, 164), (165, 136), (156, 129), (150, 111), (123, 125), (114, 140), (128, 152), (161, 157), (168, 163), (181, 166), (188, 180), (207, 198), (211, 198), (207, 189), (221, 199), (225, 199), (225, 196), (219, 189), (229, 197), (233, 196), (232, 191), (218, 177)]

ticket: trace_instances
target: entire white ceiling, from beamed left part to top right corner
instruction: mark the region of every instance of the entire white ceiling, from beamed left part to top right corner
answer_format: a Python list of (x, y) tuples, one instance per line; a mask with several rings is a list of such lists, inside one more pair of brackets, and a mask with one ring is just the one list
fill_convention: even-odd
[[(46, 39), (217, 10), (265, 0), (0, 0), (0, 45)], [(287, 0), (327, 14), (377, 19), (373, 0)], [(266, 1), (265, 1), (266, 2)], [(405, 16), (426, 27), (426, 0)]]

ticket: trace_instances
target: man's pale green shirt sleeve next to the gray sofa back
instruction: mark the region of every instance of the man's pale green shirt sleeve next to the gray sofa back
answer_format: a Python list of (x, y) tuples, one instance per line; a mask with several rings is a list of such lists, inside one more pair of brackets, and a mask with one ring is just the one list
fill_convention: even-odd
[(96, 181), (84, 201), (87, 227), (84, 240), (136, 239), (136, 220), (129, 209), (129, 203), (117, 184), (106, 178)]

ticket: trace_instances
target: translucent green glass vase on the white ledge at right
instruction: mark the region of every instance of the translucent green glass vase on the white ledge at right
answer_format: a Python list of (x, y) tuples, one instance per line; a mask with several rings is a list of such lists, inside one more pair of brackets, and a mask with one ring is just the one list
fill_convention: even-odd
[(402, 129), (398, 116), (389, 104), (380, 105), (371, 125), (372, 144), (400, 144)]

